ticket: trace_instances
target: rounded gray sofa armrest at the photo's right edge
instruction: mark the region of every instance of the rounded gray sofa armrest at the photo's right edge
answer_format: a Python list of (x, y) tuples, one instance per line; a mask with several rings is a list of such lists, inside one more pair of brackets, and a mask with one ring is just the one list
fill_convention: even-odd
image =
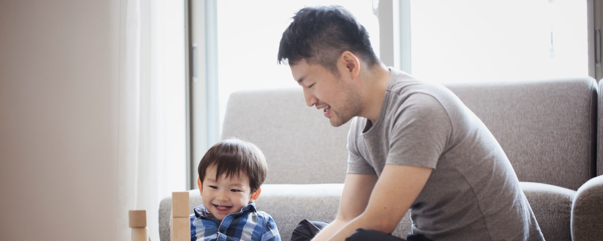
[(601, 240), (603, 237), (603, 175), (584, 183), (572, 205), (572, 240)]

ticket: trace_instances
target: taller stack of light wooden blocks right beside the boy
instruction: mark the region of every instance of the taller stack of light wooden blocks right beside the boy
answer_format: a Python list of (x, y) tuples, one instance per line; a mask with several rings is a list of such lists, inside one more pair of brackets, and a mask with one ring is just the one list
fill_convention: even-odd
[(169, 240), (191, 240), (188, 192), (172, 192), (172, 211), (171, 217), (169, 218)]

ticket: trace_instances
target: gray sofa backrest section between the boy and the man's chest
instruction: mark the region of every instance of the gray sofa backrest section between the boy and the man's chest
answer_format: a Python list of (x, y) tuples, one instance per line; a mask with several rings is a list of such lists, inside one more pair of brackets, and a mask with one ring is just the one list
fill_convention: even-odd
[(298, 87), (232, 93), (222, 136), (264, 151), (270, 168), (265, 183), (343, 183), (349, 129), (349, 123), (332, 127), (323, 111), (306, 105)]

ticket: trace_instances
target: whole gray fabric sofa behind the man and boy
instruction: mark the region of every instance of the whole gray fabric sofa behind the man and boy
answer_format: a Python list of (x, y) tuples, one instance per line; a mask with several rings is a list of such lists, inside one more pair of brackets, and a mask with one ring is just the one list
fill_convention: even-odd
[[(603, 240), (603, 98), (592, 78), (444, 84), (494, 134), (521, 181), (546, 240)], [(597, 126), (599, 125), (599, 127)], [(270, 165), (259, 210), (273, 216), (283, 240), (302, 219), (332, 221), (346, 174), (349, 124), (330, 126), (309, 108), (301, 88), (249, 90), (230, 96), (223, 137), (256, 143)], [(599, 134), (598, 131), (599, 130)], [(599, 158), (598, 158), (599, 157)], [(201, 204), (191, 190), (192, 208)], [(169, 240), (171, 198), (159, 208)], [(408, 213), (394, 235), (410, 231)]]

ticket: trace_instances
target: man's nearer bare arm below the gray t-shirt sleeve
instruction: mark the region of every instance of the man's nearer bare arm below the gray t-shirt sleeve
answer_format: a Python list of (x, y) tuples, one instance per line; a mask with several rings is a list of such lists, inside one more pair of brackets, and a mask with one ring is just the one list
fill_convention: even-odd
[(328, 240), (343, 241), (358, 228), (392, 233), (425, 187), (431, 172), (429, 167), (385, 164), (364, 212)]

